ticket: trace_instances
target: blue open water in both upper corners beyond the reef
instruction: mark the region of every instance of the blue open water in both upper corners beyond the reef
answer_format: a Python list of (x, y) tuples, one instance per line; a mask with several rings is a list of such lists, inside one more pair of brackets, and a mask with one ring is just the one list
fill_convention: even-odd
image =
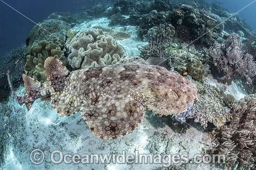
[[(23, 13), (34, 22), (41, 22), (54, 12), (76, 13), (82, 7), (93, 6), (100, 0), (3, 0)], [(104, 1), (104, 0), (101, 0)], [(215, 0), (206, 0), (209, 3)], [(222, 6), (230, 13), (235, 13), (253, 0), (220, 0)], [(34, 23), (20, 15), (0, 1), (0, 57), (13, 48), (26, 43), (27, 36)], [(249, 25), (256, 30), (256, 2), (239, 13), (241, 19), (246, 19)]]

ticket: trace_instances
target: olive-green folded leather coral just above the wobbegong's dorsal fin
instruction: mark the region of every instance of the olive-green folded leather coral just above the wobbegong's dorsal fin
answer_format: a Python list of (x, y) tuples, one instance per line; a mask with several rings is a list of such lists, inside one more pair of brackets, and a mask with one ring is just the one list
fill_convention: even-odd
[(31, 55), (27, 55), (27, 63), (24, 67), (26, 75), (37, 81), (45, 82), (46, 74), (44, 71), (44, 62), (47, 57), (57, 57), (62, 63), (67, 63), (61, 47), (62, 41), (58, 38), (52, 41), (40, 41), (37, 43), (31, 48)]

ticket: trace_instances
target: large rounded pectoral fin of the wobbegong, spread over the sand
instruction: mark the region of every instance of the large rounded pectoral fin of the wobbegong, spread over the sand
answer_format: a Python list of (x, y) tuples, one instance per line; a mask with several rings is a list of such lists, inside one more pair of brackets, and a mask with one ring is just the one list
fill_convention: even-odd
[(132, 132), (144, 114), (142, 105), (131, 97), (96, 97), (81, 107), (82, 118), (101, 139), (115, 139)]

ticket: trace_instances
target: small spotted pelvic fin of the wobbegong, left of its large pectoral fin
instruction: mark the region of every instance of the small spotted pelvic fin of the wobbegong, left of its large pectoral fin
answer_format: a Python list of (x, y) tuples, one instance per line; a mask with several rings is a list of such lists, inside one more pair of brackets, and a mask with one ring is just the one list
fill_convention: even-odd
[(66, 88), (60, 92), (51, 93), (51, 102), (58, 114), (67, 117), (80, 111), (81, 101), (73, 97)]

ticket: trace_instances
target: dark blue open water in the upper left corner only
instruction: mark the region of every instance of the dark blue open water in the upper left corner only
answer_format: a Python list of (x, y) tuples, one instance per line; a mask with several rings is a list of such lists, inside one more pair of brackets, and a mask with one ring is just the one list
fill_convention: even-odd
[[(48, 15), (55, 12), (77, 13), (82, 7), (94, 6), (101, 0), (3, 0), (14, 9), (24, 14), (35, 23), (47, 19)], [(0, 49), (3, 57), (13, 48), (26, 44), (26, 39), (34, 27), (34, 23), (16, 12), (2, 1), (0, 3)]]

